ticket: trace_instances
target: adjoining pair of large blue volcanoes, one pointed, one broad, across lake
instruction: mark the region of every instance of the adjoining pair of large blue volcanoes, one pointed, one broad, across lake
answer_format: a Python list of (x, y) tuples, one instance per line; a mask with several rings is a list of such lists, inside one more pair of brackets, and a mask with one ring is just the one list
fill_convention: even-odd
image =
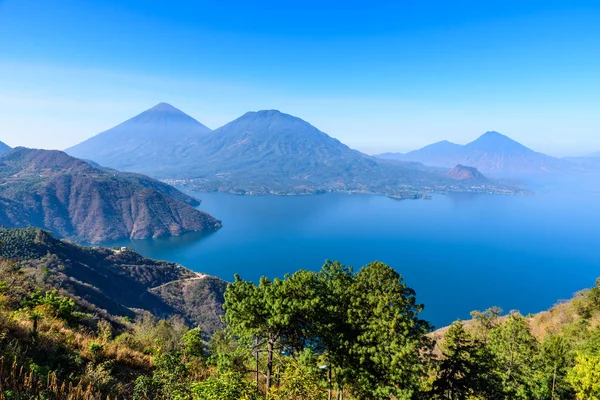
[(159, 104), (66, 151), (202, 191), (351, 191), (402, 197), (435, 190), (512, 190), (487, 180), (479, 182), (486, 187), (474, 189), (476, 182), (455, 180), (446, 170), (368, 156), (277, 110), (248, 112), (210, 132), (174, 107)]

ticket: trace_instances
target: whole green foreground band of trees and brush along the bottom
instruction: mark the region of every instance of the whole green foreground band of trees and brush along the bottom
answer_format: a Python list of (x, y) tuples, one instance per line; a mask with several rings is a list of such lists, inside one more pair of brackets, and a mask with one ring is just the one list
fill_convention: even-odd
[(600, 282), (547, 312), (433, 331), (391, 267), (326, 262), (236, 276), (208, 334), (176, 313), (100, 312), (23, 261), (38, 254), (4, 250), (0, 399), (600, 398)]

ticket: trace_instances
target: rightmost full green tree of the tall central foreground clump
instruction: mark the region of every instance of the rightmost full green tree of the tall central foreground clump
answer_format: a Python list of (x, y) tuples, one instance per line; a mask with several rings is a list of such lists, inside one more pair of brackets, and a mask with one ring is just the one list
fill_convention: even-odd
[(389, 266), (375, 262), (361, 269), (350, 288), (348, 323), (353, 391), (359, 396), (409, 397), (424, 374), (421, 354), (430, 325), (419, 319), (423, 306), (414, 290)]

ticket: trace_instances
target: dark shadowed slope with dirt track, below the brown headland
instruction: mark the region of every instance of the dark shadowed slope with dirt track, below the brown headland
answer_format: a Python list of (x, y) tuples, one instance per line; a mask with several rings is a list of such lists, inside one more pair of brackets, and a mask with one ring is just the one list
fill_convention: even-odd
[(98, 312), (128, 317), (141, 311), (160, 318), (180, 315), (207, 332), (222, 327), (227, 283), (218, 278), (128, 249), (78, 246), (36, 228), (0, 228), (0, 241), (0, 258), (20, 263)]

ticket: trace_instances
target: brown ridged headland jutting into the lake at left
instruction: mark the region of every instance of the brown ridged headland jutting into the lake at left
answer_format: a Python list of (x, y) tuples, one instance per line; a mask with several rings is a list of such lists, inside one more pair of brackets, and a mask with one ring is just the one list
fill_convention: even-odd
[(199, 203), (144, 175), (95, 167), (61, 151), (18, 147), (0, 156), (0, 225), (36, 226), (73, 240), (212, 232)]

